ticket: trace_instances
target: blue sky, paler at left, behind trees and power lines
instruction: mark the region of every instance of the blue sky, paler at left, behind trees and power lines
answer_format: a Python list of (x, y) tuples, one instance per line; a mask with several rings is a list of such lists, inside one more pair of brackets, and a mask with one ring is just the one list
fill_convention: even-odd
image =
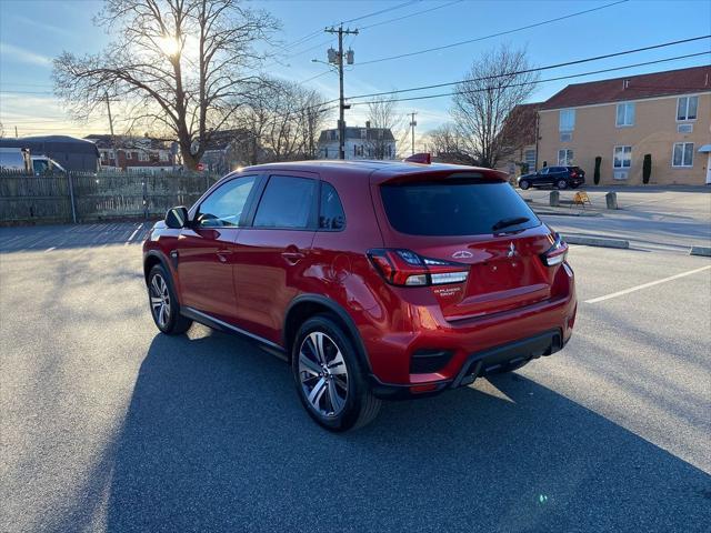
[[(439, 52), (359, 64), (387, 56), (511, 30), (612, 1), (463, 0), (452, 3), (452, 0), (423, 0), (359, 20), (350, 26), (363, 28), (443, 6), (428, 13), (364, 28), (359, 36), (348, 38), (346, 43), (356, 52), (356, 66), (346, 74), (346, 93), (352, 95), (455, 81), (464, 74), (478, 54), (500, 43), (524, 47), (532, 63), (547, 66), (711, 33), (711, 2), (708, 0), (632, 0), (565, 21)], [(301, 44), (289, 46), (290, 43), (318, 32), (326, 26), (397, 7), (404, 3), (404, 0), (274, 0), (250, 3), (272, 12), (282, 23), (280, 39), (288, 46), (279, 56), (282, 64), (274, 64), (271, 68), (272, 73), (302, 81), (327, 70), (324, 66), (312, 63), (310, 60), (324, 60), (326, 50), (331, 43), (336, 43), (336, 39), (319, 33)], [(87, 134), (108, 130), (107, 118), (103, 115), (97, 115), (87, 124), (72, 123), (61, 103), (51, 94), (50, 79), (51, 59), (62, 50), (79, 54), (98, 52), (109, 40), (110, 37), (103, 29), (94, 28), (91, 23), (92, 16), (100, 7), (101, 2), (97, 0), (0, 0), (0, 122), (6, 134), (13, 135), (16, 125), (20, 135)], [(711, 40), (547, 71), (542, 78), (701, 51), (711, 52)], [(569, 82), (710, 62), (711, 54), (707, 54), (620, 73), (579, 78)], [(327, 98), (337, 97), (338, 78), (333, 73), (312, 79), (304, 84), (320, 90)], [(544, 100), (565, 84), (567, 82), (541, 83), (531, 101)], [(418, 130), (424, 132), (448, 120), (448, 107), (449, 99), (439, 98), (403, 102), (399, 111), (403, 115), (417, 111)], [(364, 108), (353, 108), (353, 111), (347, 114), (347, 121), (350, 124), (363, 123)]]

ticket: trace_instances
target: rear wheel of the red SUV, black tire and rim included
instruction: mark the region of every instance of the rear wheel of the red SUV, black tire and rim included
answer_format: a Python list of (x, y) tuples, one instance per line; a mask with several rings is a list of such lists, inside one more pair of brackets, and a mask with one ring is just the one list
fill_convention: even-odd
[[(322, 335), (321, 353), (326, 366), (319, 363), (317, 350), (310, 348), (314, 346), (313, 340), (319, 335)], [(300, 363), (302, 351), (308, 364)], [(337, 361), (337, 352), (341, 354), (342, 364)], [(304, 370), (309, 365), (312, 365), (310, 370)], [(380, 411), (381, 401), (372, 394), (365, 381), (353, 343), (330, 315), (318, 314), (301, 324), (291, 346), (291, 370), (301, 404), (327, 430), (340, 432), (362, 428)], [(318, 371), (320, 373), (317, 374)], [(346, 396), (342, 398), (341, 393)], [(331, 400), (332, 394), (336, 394), (334, 400)], [(310, 395), (313, 395), (313, 403)]]

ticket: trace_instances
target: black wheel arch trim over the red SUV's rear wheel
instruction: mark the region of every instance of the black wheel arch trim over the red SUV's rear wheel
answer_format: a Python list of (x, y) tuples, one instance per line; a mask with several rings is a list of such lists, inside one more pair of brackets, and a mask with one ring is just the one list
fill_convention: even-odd
[(370, 368), (365, 346), (353, 319), (340, 304), (321, 294), (300, 294), (294, 298), (287, 308), (282, 329), (282, 342), (289, 360), (291, 360), (291, 343), (297, 336), (299, 326), (309, 318), (323, 313), (331, 314), (337, 319), (339, 325), (343, 328), (346, 334), (353, 342), (356, 353), (363, 370), (367, 373), (371, 373), (372, 370)]

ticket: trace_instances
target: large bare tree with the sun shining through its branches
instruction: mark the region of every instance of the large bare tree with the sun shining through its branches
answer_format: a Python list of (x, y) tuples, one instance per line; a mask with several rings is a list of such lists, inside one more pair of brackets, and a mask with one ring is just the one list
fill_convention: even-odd
[(107, 98), (141, 109), (132, 117), (169, 130), (194, 169), (212, 133), (261, 84), (257, 51), (278, 22), (241, 0), (106, 0), (94, 22), (117, 39), (96, 56), (54, 60), (56, 92), (79, 119)]

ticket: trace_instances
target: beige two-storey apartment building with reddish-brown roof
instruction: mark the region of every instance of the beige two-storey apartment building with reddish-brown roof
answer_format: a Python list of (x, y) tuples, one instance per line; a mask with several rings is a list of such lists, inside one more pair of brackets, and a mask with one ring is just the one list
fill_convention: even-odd
[(577, 164), (593, 183), (711, 183), (711, 67), (568, 86), (539, 110), (538, 169)]

